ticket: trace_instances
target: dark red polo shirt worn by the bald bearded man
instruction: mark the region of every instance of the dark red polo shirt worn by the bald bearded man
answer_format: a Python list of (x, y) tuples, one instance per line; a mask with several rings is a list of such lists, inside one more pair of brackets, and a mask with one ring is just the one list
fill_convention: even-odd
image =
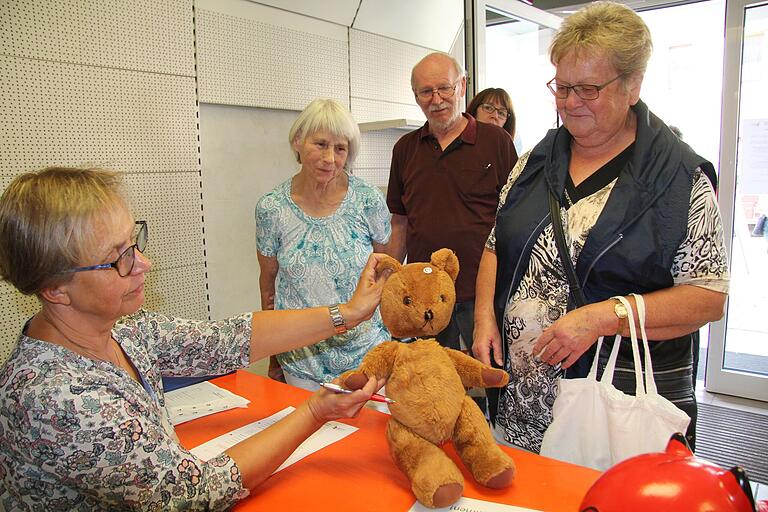
[(443, 151), (429, 123), (400, 138), (392, 150), (387, 205), (408, 218), (408, 261), (429, 261), (433, 251), (459, 257), (456, 300), (475, 297), (485, 240), (496, 218), (499, 192), (517, 162), (512, 137), (469, 114), (464, 131)]

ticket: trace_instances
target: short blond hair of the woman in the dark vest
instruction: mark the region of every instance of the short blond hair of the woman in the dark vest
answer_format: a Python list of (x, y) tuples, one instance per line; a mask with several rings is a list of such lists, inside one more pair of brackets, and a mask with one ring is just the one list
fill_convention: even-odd
[(615, 2), (593, 2), (565, 19), (552, 39), (552, 64), (575, 52), (605, 55), (624, 76), (645, 73), (653, 43), (648, 26), (632, 9)]

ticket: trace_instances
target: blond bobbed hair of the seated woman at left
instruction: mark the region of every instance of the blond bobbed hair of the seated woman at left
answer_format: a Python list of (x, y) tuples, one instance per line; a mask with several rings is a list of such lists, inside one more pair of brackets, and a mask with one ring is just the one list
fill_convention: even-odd
[(120, 187), (121, 175), (104, 169), (17, 176), (0, 197), (0, 278), (27, 295), (70, 280), (98, 246), (97, 226), (127, 209)]

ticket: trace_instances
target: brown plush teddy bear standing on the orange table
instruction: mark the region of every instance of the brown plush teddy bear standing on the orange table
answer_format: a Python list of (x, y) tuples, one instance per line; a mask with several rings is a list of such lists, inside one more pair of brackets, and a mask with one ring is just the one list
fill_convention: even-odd
[[(433, 336), (443, 330), (456, 301), (459, 261), (450, 249), (432, 253), (430, 263), (401, 265), (393, 258), (376, 270), (390, 269), (381, 316), (397, 337)], [(366, 354), (357, 370), (341, 376), (348, 389), (359, 389), (369, 376), (386, 378), (389, 409), (387, 440), (397, 466), (424, 506), (447, 507), (461, 497), (464, 478), (440, 448), (453, 441), (464, 464), (482, 485), (506, 487), (515, 464), (494, 442), (488, 423), (465, 388), (501, 387), (507, 373), (433, 339), (413, 343), (386, 341)]]

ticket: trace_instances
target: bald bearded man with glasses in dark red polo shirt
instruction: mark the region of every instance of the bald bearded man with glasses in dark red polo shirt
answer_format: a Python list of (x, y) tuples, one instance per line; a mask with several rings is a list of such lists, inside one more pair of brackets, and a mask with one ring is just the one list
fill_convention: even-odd
[(459, 335), (472, 347), (477, 267), (499, 191), (517, 162), (503, 129), (462, 114), (466, 85), (448, 54), (431, 53), (414, 66), (411, 88), (427, 122), (395, 144), (387, 190), (396, 258), (429, 261), (442, 247), (459, 258), (454, 315), (437, 336), (455, 349)]

